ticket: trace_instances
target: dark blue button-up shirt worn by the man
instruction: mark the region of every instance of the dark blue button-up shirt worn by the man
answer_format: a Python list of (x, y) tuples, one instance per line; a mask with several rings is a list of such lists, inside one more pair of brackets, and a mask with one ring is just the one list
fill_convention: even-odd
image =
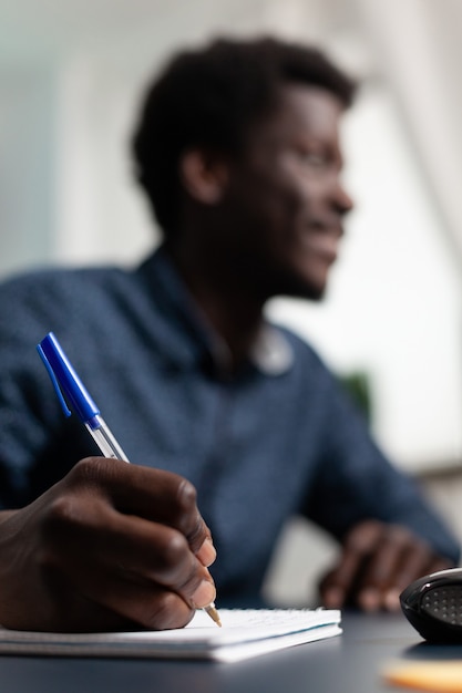
[(365, 518), (401, 523), (456, 561), (414, 484), (371, 439), (337, 380), (267, 324), (235, 374), (164, 250), (135, 271), (50, 270), (0, 288), (0, 501), (20, 507), (97, 454), (66, 420), (35, 344), (53, 331), (132, 463), (197, 488), (218, 551), (220, 604), (256, 598), (284, 523), (341, 540)]

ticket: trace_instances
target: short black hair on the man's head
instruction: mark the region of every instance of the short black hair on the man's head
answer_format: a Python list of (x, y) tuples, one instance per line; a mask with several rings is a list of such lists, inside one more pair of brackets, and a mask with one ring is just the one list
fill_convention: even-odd
[(176, 227), (182, 155), (194, 147), (239, 154), (287, 83), (325, 89), (346, 107), (356, 91), (321, 51), (266, 37), (216, 39), (167, 64), (147, 91), (133, 138), (138, 180), (166, 236)]

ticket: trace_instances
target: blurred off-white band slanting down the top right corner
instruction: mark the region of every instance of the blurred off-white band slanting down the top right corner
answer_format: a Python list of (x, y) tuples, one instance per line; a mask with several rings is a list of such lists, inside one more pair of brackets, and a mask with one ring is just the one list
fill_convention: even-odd
[(462, 259), (462, 2), (353, 0)]

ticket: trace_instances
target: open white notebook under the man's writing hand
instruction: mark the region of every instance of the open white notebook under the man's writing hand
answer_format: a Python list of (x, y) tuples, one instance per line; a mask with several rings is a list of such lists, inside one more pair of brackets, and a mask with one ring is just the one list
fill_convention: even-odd
[(236, 662), (341, 633), (340, 611), (220, 609), (223, 628), (197, 611), (183, 629), (42, 633), (0, 628), (0, 654), (202, 659)]

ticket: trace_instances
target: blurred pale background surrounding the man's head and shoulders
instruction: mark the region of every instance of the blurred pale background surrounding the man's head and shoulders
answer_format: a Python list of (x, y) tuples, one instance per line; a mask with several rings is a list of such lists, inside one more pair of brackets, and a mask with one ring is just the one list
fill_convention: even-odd
[[(176, 49), (220, 33), (319, 44), (361, 81), (342, 133), (357, 209), (327, 299), (268, 312), (366, 383), (382, 447), (462, 538), (460, 0), (0, 0), (0, 278), (133, 265), (157, 242), (132, 176), (140, 99)], [(307, 592), (300, 556), (330, 559), (305, 537), (284, 537), (276, 599)]]

